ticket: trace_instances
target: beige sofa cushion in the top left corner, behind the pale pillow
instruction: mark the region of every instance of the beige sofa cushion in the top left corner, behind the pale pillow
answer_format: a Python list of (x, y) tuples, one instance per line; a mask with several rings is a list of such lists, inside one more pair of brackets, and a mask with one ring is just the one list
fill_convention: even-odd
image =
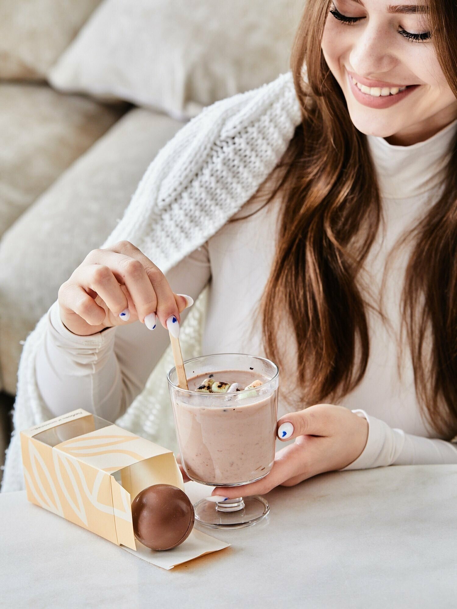
[(0, 79), (44, 80), (100, 1), (0, 1)]

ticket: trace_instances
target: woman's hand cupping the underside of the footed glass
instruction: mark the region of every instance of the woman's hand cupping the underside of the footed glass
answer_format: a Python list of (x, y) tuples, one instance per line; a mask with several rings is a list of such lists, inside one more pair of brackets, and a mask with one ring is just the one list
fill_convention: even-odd
[(281, 417), (277, 435), (280, 440), (296, 440), (275, 454), (265, 477), (243, 487), (216, 487), (211, 496), (263, 495), (278, 485), (291, 487), (324, 471), (341, 470), (363, 452), (368, 423), (343, 406), (316, 404)]

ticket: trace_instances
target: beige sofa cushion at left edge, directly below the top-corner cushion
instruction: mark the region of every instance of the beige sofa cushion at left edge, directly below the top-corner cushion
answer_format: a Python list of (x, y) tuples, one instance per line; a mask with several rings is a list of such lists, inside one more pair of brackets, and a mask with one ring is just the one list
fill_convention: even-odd
[(0, 82), (0, 238), (124, 111), (47, 85)]

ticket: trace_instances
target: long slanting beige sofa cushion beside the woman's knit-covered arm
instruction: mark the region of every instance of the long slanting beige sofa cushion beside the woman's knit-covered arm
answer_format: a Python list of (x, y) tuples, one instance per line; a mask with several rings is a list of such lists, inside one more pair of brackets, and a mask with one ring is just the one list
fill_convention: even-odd
[[(0, 241), (0, 373), (16, 392), (27, 334), (58, 288), (121, 218), (158, 150), (182, 123), (135, 108), (80, 157)], [(64, 146), (63, 146), (64, 147)]]

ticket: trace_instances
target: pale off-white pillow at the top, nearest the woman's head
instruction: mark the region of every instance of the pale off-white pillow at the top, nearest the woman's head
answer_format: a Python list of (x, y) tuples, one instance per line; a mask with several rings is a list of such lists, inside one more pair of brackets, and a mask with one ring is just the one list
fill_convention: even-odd
[(289, 69), (303, 0), (105, 0), (49, 73), (175, 118)]

